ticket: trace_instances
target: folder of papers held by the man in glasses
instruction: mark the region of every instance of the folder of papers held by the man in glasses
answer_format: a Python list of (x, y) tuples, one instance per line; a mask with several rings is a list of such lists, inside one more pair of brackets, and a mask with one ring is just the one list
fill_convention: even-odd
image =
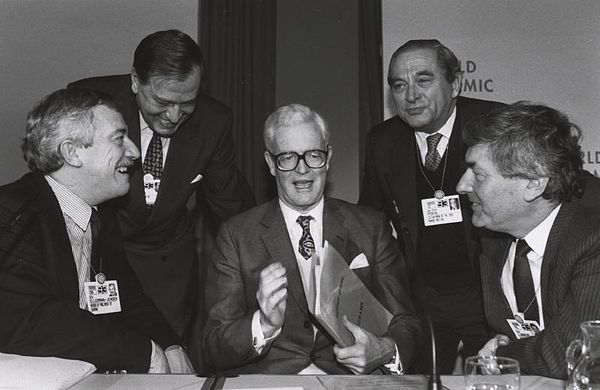
[(382, 336), (387, 332), (392, 314), (371, 294), (342, 255), (327, 241), (322, 253), (325, 261), (321, 262), (317, 299), (315, 307), (309, 307), (311, 313), (342, 347), (349, 347), (355, 342), (352, 333), (342, 323), (344, 315), (353, 324)]

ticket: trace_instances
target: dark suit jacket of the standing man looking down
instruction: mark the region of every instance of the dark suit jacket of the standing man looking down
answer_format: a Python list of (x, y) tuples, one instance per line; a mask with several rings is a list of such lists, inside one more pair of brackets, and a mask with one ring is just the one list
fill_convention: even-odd
[[(69, 88), (91, 88), (113, 96), (140, 147), (139, 111), (130, 75), (76, 81)], [(197, 175), (203, 178), (191, 183)], [(128, 196), (113, 202), (131, 266), (144, 290), (181, 335), (195, 307), (198, 258), (194, 218), (187, 203), (196, 192), (221, 219), (254, 205), (248, 184), (234, 165), (231, 112), (216, 100), (200, 95), (194, 113), (171, 138), (160, 191), (151, 211), (144, 198), (141, 161)], [(205, 198), (204, 198), (205, 197)]]

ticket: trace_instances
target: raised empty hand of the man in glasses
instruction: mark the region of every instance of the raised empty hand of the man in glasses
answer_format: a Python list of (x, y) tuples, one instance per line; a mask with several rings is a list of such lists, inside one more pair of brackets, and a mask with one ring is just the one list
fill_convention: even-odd
[(260, 272), (256, 300), (260, 308), (260, 325), (265, 338), (283, 326), (287, 300), (287, 277), (281, 263), (273, 263)]

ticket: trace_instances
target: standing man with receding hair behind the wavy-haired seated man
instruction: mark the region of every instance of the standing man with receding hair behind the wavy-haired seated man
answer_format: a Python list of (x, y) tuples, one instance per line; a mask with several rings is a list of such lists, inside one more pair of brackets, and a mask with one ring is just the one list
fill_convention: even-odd
[[(437, 40), (412, 40), (396, 50), (388, 84), (398, 115), (367, 135), (359, 199), (394, 224), (415, 272), (414, 299), (433, 322), (442, 374), (452, 372), (460, 341), (469, 356), (488, 336), (477, 237), (470, 210), (455, 207), (466, 200), (455, 187), (465, 169), (463, 127), (500, 104), (459, 96), (461, 75), (454, 53)], [(431, 348), (423, 351), (413, 371), (429, 370)]]

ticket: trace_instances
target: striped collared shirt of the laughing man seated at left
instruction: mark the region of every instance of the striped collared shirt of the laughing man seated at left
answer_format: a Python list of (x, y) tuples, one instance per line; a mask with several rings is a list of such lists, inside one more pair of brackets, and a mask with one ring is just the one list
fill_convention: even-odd
[(82, 264), (89, 264), (92, 257), (92, 229), (90, 228), (92, 208), (83, 199), (49, 175), (45, 175), (44, 178), (52, 188), (65, 220), (79, 278), (79, 307), (85, 309), (87, 303), (83, 283), (88, 282), (90, 276), (89, 269), (83, 273), (81, 267)]

